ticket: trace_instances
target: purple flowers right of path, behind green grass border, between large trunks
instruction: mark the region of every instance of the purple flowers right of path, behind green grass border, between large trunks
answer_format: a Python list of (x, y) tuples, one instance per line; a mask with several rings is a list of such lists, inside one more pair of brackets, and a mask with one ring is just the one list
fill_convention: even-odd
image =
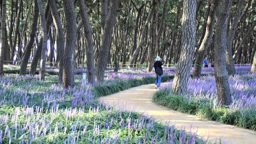
[[(230, 91), (232, 94), (233, 103), (230, 106), (230, 111), (236, 109), (256, 109), (256, 76), (255, 74), (244, 74), (230, 77)], [(171, 91), (171, 83), (166, 83), (161, 86), (161, 90), (168, 89)], [(200, 102), (207, 100), (212, 102), (217, 108), (218, 97), (214, 76), (204, 76), (200, 79), (189, 79), (188, 97), (190, 100)], [(256, 111), (256, 110), (255, 110)]]

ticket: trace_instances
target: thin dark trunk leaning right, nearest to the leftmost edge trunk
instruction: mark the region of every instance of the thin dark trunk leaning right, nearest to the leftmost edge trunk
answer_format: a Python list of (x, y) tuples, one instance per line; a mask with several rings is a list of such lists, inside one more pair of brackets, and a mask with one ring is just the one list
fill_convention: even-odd
[[(22, 4), (23, 4), (23, 1), (20, 0), (20, 3), (19, 3), (19, 11), (18, 11), (18, 15), (17, 15), (17, 20), (16, 20), (16, 24), (15, 24), (15, 34), (14, 34), (14, 39), (13, 39), (13, 47), (12, 47), (12, 61), (13, 61), (13, 58), (14, 58), (14, 55), (15, 55), (15, 49), (16, 49), (16, 42), (17, 42), (17, 37), (18, 37), (18, 33), (19, 33), (19, 25), (20, 25), (20, 13), (21, 13), (21, 10), (22, 10)], [(19, 47), (19, 45), (18, 45)]]

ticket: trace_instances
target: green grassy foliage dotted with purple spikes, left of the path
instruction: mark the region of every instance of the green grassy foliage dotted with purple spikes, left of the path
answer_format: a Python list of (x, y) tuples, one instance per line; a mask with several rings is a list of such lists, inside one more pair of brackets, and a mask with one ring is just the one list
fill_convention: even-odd
[[(57, 76), (45, 78), (42, 82), (38, 77), (2, 77), (4, 85), (0, 86), (0, 90), (9, 95), (6, 102), (11, 103), (0, 106), (0, 143), (186, 143), (194, 140), (195, 143), (205, 143), (193, 133), (159, 124), (140, 113), (117, 111), (96, 100), (102, 95), (154, 83), (155, 77), (105, 81), (92, 87), (94, 100), (75, 107), (73, 103), (78, 93), (90, 94), (89, 87), (84, 87), (87, 91), (82, 91), (81, 76), (75, 76), (76, 86), (68, 90), (62, 90), (56, 83)], [(163, 76), (163, 81), (172, 78)], [(49, 95), (54, 99), (47, 106)], [(28, 98), (26, 104), (19, 102), (24, 100), (23, 97)], [(42, 100), (46, 100), (44, 109)], [(54, 102), (58, 106), (54, 106)]]

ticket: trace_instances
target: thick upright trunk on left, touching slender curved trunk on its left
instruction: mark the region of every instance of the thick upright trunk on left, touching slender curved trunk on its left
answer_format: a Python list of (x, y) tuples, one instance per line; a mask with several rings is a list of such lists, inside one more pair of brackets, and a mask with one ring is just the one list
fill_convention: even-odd
[(76, 49), (76, 10), (73, 0), (63, 0), (67, 21), (64, 54), (63, 88), (74, 86), (74, 50)]

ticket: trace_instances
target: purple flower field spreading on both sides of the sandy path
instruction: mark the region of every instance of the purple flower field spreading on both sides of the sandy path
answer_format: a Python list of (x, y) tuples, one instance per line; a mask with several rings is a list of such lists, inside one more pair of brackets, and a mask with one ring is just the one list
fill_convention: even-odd
[[(256, 78), (246, 74), (249, 71), (239, 67), (237, 72), (244, 75), (230, 78), (234, 102), (229, 111), (255, 111)], [(204, 68), (203, 73), (214, 71)], [(165, 76), (173, 74), (175, 68), (164, 68)], [(106, 72), (102, 85), (154, 76), (154, 72), (143, 70)], [(62, 90), (57, 79), (47, 76), (41, 82), (38, 77), (17, 75), (0, 78), (0, 143), (208, 143), (200, 140), (196, 131), (186, 133), (138, 113), (103, 106), (95, 98), (93, 86), (82, 86), (81, 75), (75, 76), (75, 88), (67, 90)], [(170, 85), (162, 84), (161, 90), (170, 89)], [(214, 76), (189, 79), (188, 99), (207, 100), (218, 108)]]

